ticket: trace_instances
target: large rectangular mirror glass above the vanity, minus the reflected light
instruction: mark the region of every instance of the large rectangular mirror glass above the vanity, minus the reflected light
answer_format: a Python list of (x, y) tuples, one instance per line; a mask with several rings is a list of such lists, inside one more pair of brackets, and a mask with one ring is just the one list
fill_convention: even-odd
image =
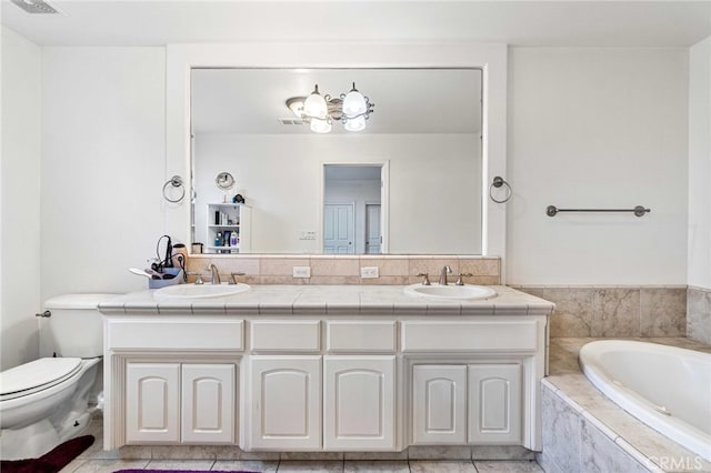
[[(360, 131), (334, 120), (314, 133), (287, 107), (317, 83), (338, 98), (353, 82), (377, 103)], [(193, 242), (213, 253), (481, 254), (481, 109), (478, 69), (193, 69)], [(342, 174), (356, 168), (378, 178)], [(221, 172), (234, 177), (229, 192), (214, 185)], [(347, 195), (359, 180), (380, 194)], [(218, 203), (231, 204), (234, 228), (216, 229)], [(327, 204), (349, 203), (352, 217), (338, 212), (352, 221), (350, 249), (327, 240), (340, 222)], [(211, 248), (216, 230), (222, 248)]]

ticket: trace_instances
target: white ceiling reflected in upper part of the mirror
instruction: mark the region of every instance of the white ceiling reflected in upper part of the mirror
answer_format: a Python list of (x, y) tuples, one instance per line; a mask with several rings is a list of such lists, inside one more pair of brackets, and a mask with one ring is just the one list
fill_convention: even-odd
[(352, 82), (374, 103), (365, 130), (333, 134), (472, 133), (481, 131), (478, 69), (196, 69), (191, 78), (193, 134), (311, 134), (294, 119), (290, 97), (316, 83), (322, 95), (347, 93)]

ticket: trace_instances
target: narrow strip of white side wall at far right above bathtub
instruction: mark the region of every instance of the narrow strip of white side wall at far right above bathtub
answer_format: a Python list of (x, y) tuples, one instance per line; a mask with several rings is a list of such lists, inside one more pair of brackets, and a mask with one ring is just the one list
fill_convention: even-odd
[(711, 38), (689, 57), (688, 283), (711, 289)]

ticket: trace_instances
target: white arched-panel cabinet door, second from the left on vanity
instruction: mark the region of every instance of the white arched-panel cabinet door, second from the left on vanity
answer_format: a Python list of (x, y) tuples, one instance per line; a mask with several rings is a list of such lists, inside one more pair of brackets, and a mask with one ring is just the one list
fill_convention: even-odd
[(182, 365), (182, 442), (234, 442), (234, 365)]

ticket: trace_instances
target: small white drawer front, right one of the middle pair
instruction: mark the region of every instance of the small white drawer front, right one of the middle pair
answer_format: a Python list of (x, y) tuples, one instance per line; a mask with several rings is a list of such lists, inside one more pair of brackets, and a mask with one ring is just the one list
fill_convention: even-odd
[(328, 322), (326, 329), (326, 349), (339, 352), (388, 352), (398, 348), (395, 321)]

